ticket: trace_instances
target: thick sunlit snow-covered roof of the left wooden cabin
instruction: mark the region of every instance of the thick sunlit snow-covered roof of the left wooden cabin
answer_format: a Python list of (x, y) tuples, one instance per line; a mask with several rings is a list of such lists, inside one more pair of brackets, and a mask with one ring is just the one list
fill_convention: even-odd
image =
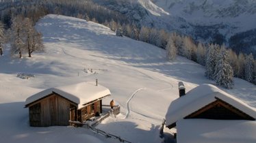
[(25, 106), (46, 97), (53, 92), (75, 102), (78, 104), (78, 108), (81, 108), (84, 104), (87, 104), (90, 101), (94, 101), (111, 94), (109, 89), (101, 86), (100, 84), (96, 86), (95, 82), (81, 82), (68, 86), (58, 86), (36, 93), (26, 99)]

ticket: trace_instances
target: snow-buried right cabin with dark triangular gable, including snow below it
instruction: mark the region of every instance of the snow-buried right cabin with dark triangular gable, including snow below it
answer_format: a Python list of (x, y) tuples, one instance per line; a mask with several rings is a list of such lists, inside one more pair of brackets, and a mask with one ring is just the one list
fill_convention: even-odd
[[(229, 134), (220, 135), (220, 130), (241, 129), (251, 136), (249, 127), (253, 127), (256, 131), (255, 118), (255, 108), (212, 84), (201, 84), (171, 102), (166, 113), (166, 127), (169, 129), (176, 127), (177, 142), (201, 142), (199, 138), (202, 142), (214, 142), (217, 138), (221, 138), (218, 142), (229, 142), (229, 140), (240, 142), (241, 140), (232, 139), (233, 136)], [(202, 127), (196, 127), (196, 125)], [(188, 131), (193, 134), (191, 138)], [(222, 132), (225, 133), (225, 131)], [(207, 133), (208, 135), (213, 133), (213, 136), (214, 133), (216, 134), (212, 138), (205, 136)], [(234, 132), (233, 135), (239, 136), (239, 133)], [(197, 138), (194, 138), (195, 136)], [(256, 142), (253, 135), (248, 140)]]

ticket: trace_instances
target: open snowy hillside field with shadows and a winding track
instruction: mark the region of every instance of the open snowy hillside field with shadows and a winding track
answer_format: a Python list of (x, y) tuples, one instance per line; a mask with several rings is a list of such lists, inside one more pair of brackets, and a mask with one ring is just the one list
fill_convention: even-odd
[[(165, 50), (116, 37), (94, 22), (48, 15), (36, 28), (44, 35), (44, 53), (13, 59), (5, 49), (0, 57), (0, 142), (118, 142), (84, 128), (29, 127), (27, 97), (95, 79), (112, 93), (104, 104), (114, 99), (121, 106), (121, 114), (97, 128), (129, 142), (162, 142), (159, 128), (170, 102), (178, 97), (178, 82), (185, 83), (186, 91), (214, 84), (203, 76), (201, 65), (183, 57), (169, 62)], [(255, 85), (235, 79), (235, 88), (227, 92), (256, 107)]]

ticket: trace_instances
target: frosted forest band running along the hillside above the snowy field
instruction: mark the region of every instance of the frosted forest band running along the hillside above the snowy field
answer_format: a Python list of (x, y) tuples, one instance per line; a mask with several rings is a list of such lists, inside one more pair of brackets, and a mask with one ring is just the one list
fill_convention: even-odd
[[(216, 80), (217, 84), (226, 88), (230, 89), (232, 87), (233, 77), (256, 83), (256, 61), (253, 58), (253, 54), (238, 53), (224, 45), (195, 42), (190, 36), (169, 33), (164, 29), (144, 27), (139, 22), (136, 22), (136, 20), (122, 13), (110, 10), (90, 0), (1, 1), (0, 10), (0, 20), (3, 23), (3, 26), (0, 28), (0, 52), (2, 54), (4, 46), (1, 45), (8, 42), (12, 44), (12, 54), (18, 54), (20, 58), (23, 56), (23, 53), (28, 53), (29, 57), (31, 57), (31, 52), (34, 50), (43, 50), (43, 46), (41, 46), (42, 35), (36, 29), (32, 28), (32, 26), (42, 16), (47, 14), (62, 14), (64, 16), (73, 16), (98, 22), (110, 27), (112, 31), (116, 31), (116, 34), (119, 36), (125, 35), (132, 39), (164, 48), (170, 60), (175, 60), (176, 55), (179, 54), (195, 61), (206, 67), (207, 72), (205, 76), (207, 78)], [(18, 23), (22, 25), (18, 25)], [(240, 44), (242, 42), (235, 40), (239, 36), (246, 36), (246, 34), (250, 34), (250, 32), (231, 37), (231, 45), (246, 46)], [(8, 39), (12, 39), (12, 41)], [(253, 39), (250, 40), (253, 41)], [(214, 49), (214, 52), (211, 49)], [(209, 59), (211, 54), (214, 58)], [(229, 72), (224, 72), (221, 74), (222, 77), (217, 77), (216, 75), (219, 74), (216, 71), (223, 65), (226, 65), (225, 67), (228, 68)], [(221, 82), (220, 78), (222, 80), (228, 80), (228, 83), (226, 81)]]

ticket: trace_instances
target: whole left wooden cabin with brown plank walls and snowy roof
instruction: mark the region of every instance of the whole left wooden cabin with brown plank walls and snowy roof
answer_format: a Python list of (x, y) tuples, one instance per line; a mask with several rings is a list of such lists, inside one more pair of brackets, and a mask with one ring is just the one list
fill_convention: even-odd
[(69, 121), (87, 121), (102, 113), (102, 99), (110, 90), (92, 82), (47, 89), (28, 97), (29, 125), (48, 127), (69, 125)]

